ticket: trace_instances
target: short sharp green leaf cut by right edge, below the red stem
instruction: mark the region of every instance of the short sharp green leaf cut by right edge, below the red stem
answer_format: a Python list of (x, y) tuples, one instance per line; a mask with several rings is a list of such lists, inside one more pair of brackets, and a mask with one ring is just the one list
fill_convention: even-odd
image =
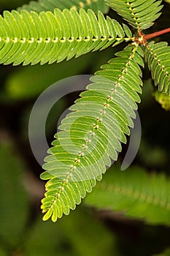
[(167, 42), (150, 42), (145, 47), (145, 57), (152, 79), (158, 90), (170, 95), (170, 47)]

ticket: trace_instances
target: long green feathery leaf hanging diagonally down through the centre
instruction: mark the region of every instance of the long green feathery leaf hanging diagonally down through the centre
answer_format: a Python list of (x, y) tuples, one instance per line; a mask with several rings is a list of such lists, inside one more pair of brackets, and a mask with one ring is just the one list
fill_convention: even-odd
[[(131, 45), (117, 53), (96, 72), (75, 105), (63, 119), (61, 132), (55, 135), (41, 178), (47, 181), (45, 198), (42, 199), (44, 219), (55, 222), (69, 214), (81, 202), (86, 192), (91, 192), (100, 181), (110, 159), (117, 159), (120, 142), (133, 126), (136, 102), (140, 101), (143, 65), (142, 50)], [(114, 125), (113, 125), (114, 124)]]

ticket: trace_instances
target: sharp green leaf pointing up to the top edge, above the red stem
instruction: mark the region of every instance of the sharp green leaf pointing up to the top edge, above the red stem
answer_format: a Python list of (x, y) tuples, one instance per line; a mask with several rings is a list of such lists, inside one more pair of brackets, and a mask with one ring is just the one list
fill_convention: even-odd
[(128, 21), (135, 29), (143, 30), (152, 26), (162, 9), (161, 1), (156, 0), (106, 0), (119, 15)]

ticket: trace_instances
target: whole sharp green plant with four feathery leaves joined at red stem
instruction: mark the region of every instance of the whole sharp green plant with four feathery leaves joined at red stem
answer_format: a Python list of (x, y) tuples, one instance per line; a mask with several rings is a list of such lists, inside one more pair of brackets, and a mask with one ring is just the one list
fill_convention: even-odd
[[(104, 16), (109, 7), (136, 29), (138, 37), (127, 25)], [(87, 91), (55, 135), (41, 175), (48, 180), (42, 199), (44, 220), (51, 217), (55, 222), (69, 214), (101, 181), (111, 159), (117, 160), (140, 102), (144, 60), (158, 90), (170, 94), (170, 48), (167, 42), (148, 42), (170, 28), (143, 32), (162, 7), (155, 0), (39, 0), (0, 16), (1, 64), (52, 64), (128, 44), (90, 78)]]

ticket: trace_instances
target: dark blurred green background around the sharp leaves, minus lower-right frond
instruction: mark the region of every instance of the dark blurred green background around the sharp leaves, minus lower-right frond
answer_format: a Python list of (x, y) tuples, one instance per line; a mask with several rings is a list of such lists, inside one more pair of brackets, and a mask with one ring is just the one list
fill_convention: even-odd
[[(69, 0), (68, 0), (69, 1)], [(12, 10), (24, 0), (0, 0), (0, 9)], [(110, 15), (115, 15), (110, 12)], [(117, 18), (117, 15), (115, 15)], [(169, 23), (170, 5), (150, 32)], [(170, 41), (169, 34), (161, 39)], [(159, 40), (159, 38), (157, 38)], [(55, 224), (42, 222), (40, 200), (44, 182), (42, 168), (31, 153), (28, 142), (28, 118), (36, 98), (48, 86), (72, 75), (93, 74), (114, 56), (118, 48), (88, 53), (60, 64), (0, 68), (0, 256), (150, 256), (170, 255), (170, 229), (165, 225), (146, 225), (122, 214), (94, 211), (84, 204)], [(152, 96), (150, 72), (144, 71), (144, 93), (139, 105), (142, 141), (133, 165), (148, 173), (166, 173), (170, 166), (170, 113)], [(56, 132), (58, 118), (72, 105), (78, 94), (63, 97), (47, 119), (49, 144)], [(123, 161), (128, 146), (123, 146), (118, 162)], [(128, 170), (126, 170), (128, 171)], [(102, 181), (101, 181), (102, 182)]]

